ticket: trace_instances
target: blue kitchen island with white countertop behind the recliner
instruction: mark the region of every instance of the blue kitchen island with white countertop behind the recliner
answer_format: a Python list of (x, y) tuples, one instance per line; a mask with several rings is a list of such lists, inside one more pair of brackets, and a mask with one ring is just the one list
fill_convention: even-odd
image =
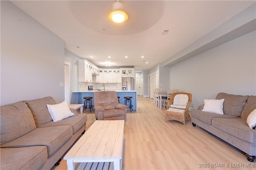
[[(106, 90), (106, 91), (116, 91), (116, 95), (119, 98), (119, 103), (124, 104), (125, 96), (132, 96), (132, 109), (137, 110), (137, 91), (135, 90)], [(92, 97), (92, 106), (94, 109), (94, 92), (98, 92), (98, 90), (88, 90), (84, 92), (73, 92), (78, 93), (78, 104), (84, 104), (84, 97)], [(130, 110), (130, 109), (129, 109)]]

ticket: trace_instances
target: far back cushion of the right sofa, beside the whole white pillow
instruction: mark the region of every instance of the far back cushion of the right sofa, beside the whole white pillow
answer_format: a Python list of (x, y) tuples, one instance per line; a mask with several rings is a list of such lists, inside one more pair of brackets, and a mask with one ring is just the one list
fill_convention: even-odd
[(240, 116), (249, 96), (219, 93), (216, 99), (225, 99), (223, 112), (227, 115)]

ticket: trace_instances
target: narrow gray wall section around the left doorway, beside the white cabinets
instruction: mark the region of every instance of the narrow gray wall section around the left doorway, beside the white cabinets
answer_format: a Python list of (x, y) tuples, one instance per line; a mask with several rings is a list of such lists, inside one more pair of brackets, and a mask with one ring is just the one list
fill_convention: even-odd
[(78, 103), (78, 93), (72, 93), (78, 91), (78, 59), (82, 59), (65, 49), (65, 61), (70, 62), (70, 104)]

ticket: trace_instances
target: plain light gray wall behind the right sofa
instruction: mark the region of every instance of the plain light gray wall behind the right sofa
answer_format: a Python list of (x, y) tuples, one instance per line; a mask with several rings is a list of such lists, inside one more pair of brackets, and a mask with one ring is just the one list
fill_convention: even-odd
[(219, 92), (256, 95), (256, 32), (170, 67), (170, 87), (192, 93), (190, 107)]

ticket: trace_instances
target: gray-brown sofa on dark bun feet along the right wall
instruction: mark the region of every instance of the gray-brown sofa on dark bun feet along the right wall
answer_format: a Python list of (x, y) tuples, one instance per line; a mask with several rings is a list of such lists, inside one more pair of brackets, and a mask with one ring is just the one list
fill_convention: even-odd
[(193, 126), (200, 126), (213, 135), (246, 153), (253, 162), (256, 156), (256, 130), (246, 123), (248, 115), (256, 108), (256, 96), (240, 96), (219, 93), (216, 99), (224, 99), (223, 115), (191, 109)]

